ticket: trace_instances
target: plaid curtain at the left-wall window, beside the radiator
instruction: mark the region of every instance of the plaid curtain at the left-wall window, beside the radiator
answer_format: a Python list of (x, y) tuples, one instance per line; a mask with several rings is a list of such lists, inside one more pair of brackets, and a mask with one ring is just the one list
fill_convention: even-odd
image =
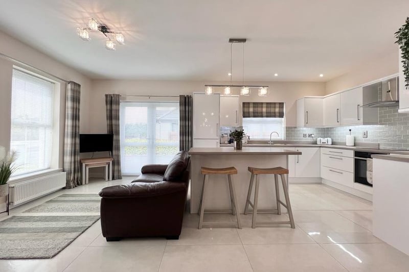
[(80, 89), (81, 85), (68, 82), (65, 91), (64, 171), (66, 189), (81, 185), (80, 168)]

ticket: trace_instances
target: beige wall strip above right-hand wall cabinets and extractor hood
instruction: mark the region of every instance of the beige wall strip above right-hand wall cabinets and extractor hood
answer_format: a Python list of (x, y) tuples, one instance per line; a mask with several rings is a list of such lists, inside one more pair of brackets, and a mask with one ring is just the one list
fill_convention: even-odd
[(345, 90), (398, 72), (398, 47), (396, 52), (362, 63), (344, 75), (326, 83), (325, 93)]

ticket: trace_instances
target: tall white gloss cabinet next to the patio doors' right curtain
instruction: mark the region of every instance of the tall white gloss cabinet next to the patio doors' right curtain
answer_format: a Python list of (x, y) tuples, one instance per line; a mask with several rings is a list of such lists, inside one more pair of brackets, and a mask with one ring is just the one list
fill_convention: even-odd
[(218, 147), (220, 94), (193, 93), (193, 147)]

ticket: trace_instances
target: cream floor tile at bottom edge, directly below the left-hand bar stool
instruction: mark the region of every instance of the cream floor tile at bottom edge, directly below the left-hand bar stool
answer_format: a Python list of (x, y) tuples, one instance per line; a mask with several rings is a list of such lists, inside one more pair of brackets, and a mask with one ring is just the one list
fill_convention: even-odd
[(166, 246), (160, 272), (250, 272), (242, 245)]

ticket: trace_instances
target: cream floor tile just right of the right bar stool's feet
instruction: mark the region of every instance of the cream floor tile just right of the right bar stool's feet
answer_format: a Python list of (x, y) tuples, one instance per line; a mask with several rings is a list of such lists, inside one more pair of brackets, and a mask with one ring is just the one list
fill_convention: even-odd
[(295, 211), (294, 220), (318, 243), (382, 242), (372, 232), (334, 211)]

